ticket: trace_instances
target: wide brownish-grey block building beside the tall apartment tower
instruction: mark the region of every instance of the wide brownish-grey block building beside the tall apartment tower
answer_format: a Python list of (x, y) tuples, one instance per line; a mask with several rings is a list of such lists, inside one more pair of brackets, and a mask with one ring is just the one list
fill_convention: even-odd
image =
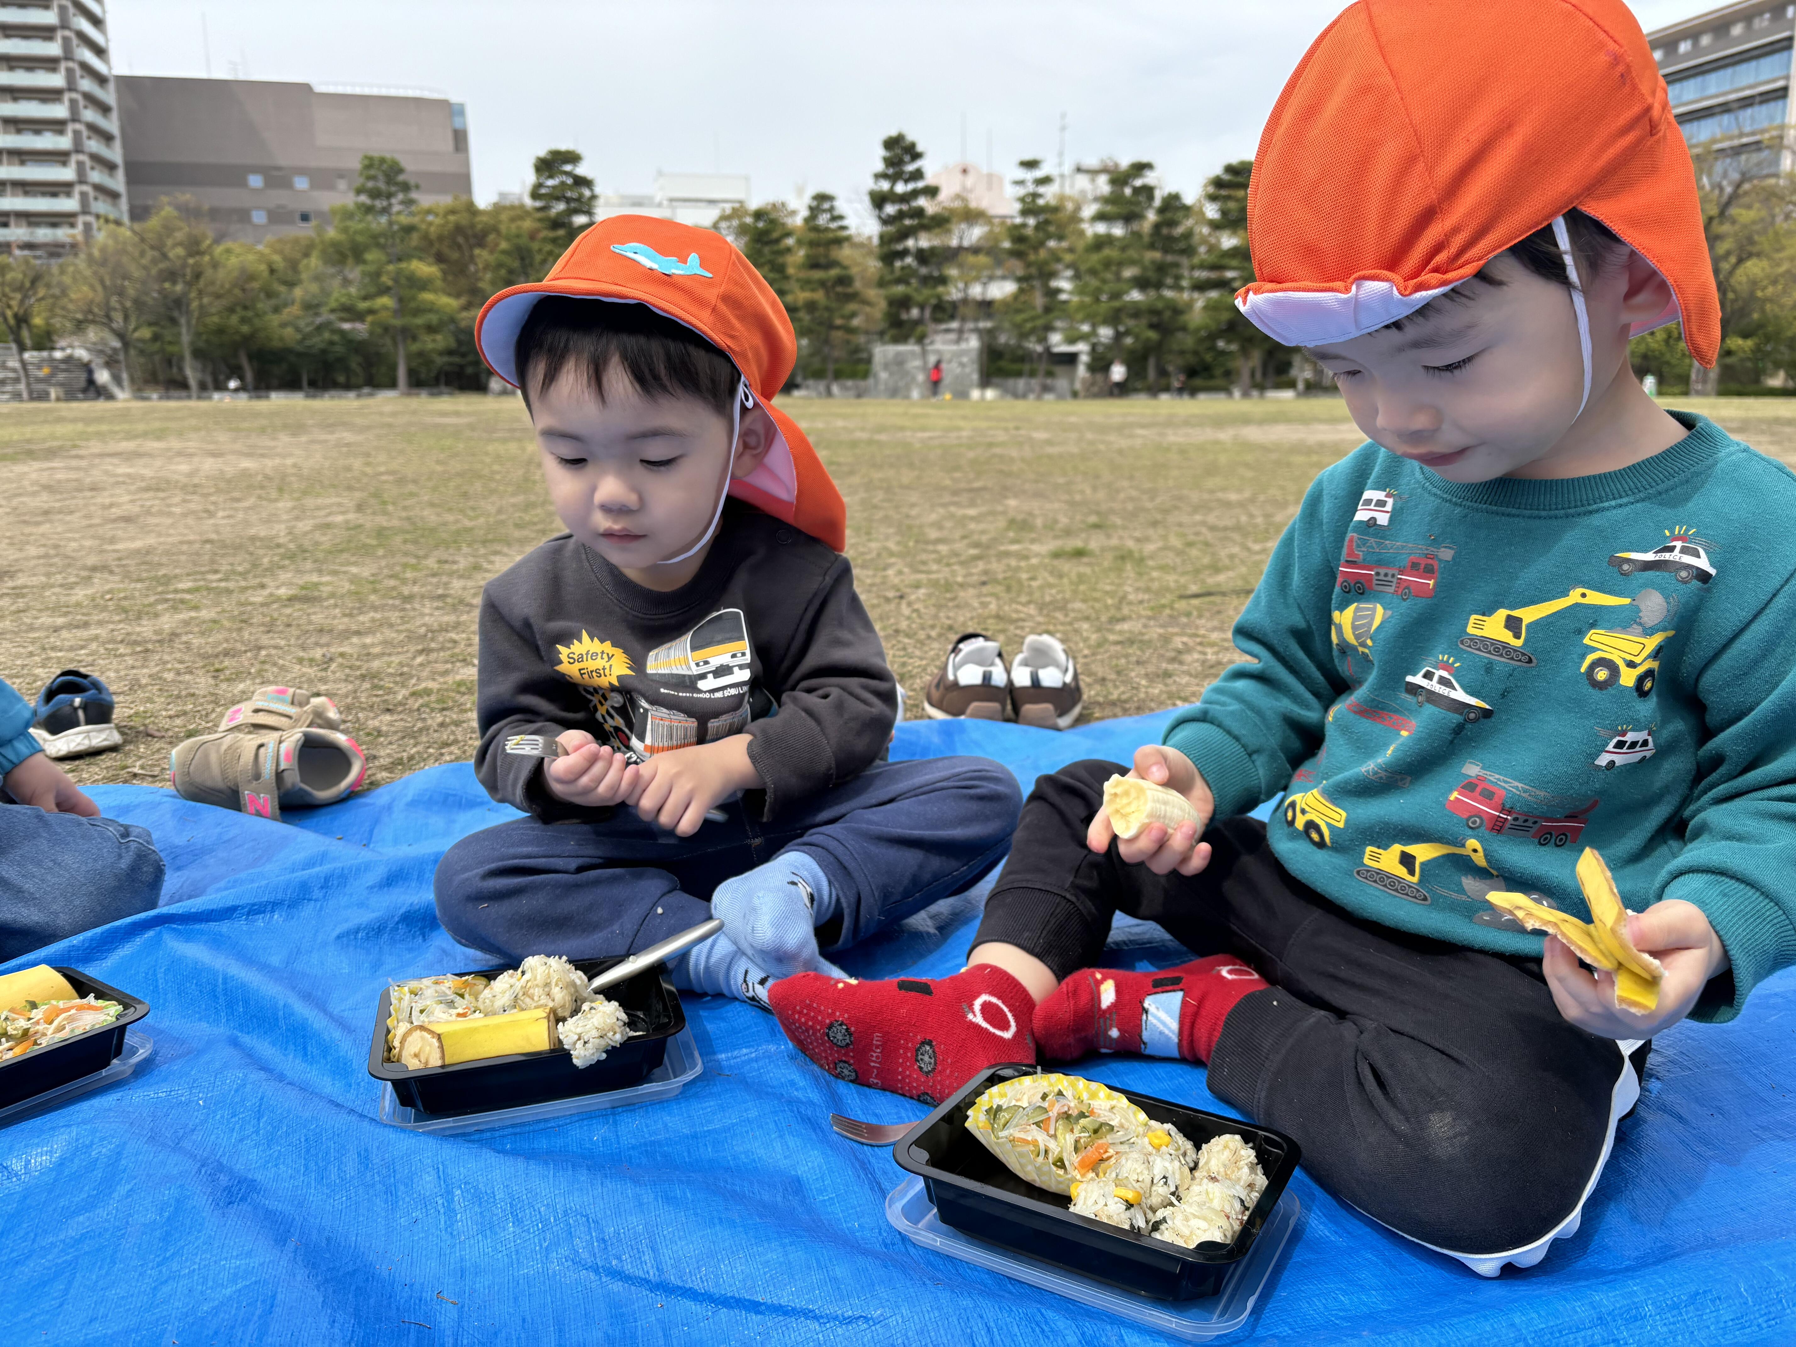
[(117, 83), (133, 221), (190, 196), (223, 237), (309, 230), (354, 199), (363, 154), (404, 163), (420, 203), (474, 194), (460, 102), (262, 79)]

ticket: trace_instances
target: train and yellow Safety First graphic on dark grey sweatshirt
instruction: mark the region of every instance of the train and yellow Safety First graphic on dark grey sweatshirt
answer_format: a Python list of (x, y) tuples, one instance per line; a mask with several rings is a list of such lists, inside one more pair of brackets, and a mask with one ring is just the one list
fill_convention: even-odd
[(636, 762), (749, 727), (754, 648), (740, 609), (713, 612), (639, 661), (585, 632), (557, 650), (557, 672), (580, 684), (612, 747)]

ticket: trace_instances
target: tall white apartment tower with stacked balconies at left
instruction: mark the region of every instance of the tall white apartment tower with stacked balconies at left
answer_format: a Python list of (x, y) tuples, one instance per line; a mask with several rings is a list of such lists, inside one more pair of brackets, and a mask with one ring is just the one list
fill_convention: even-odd
[(0, 244), (54, 257), (124, 219), (101, 0), (0, 4)]

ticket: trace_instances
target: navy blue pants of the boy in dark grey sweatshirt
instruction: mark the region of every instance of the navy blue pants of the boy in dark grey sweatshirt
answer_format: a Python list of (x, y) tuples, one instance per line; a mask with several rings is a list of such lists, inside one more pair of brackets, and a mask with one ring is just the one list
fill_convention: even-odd
[(603, 823), (517, 819), (463, 837), (436, 867), (436, 916), (463, 945), (523, 959), (632, 954), (708, 921), (711, 891), (794, 848), (839, 902), (844, 948), (959, 893), (1009, 850), (1022, 792), (986, 758), (878, 762), (781, 810), (724, 806), (675, 837), (618, 810)]

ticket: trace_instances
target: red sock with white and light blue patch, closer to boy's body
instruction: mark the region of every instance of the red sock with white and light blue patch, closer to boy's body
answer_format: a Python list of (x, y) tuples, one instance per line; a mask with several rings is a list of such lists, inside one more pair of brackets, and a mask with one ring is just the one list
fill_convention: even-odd
[(1056, 1061), (1094, 1051), (1209, 1061), (1228, 1011), (1263, 986), (1232, 954), (1146, 973), (1081, 968), (1034, 1008), (1034, 1038)]

